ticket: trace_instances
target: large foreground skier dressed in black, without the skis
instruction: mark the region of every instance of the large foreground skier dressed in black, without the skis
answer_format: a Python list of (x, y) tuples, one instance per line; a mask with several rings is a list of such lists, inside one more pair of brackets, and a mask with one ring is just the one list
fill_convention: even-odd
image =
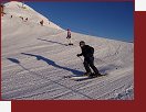
[[(97, 68), (94, 66), (94, 48), (90, 45), (85, 45), (84, 41), (80, 42), (80, 47), (82, 49), (81, 54), (77, 54), (76, 56), (84, 56), (84, 67), (86, 72), (84, 74), (85, 76), (91, 76), (91, 77), (96, 77), (100, 76), (101, 74), (98, 72)], [(93, 69), (94, 74), (92, 74), (91, 68)]]

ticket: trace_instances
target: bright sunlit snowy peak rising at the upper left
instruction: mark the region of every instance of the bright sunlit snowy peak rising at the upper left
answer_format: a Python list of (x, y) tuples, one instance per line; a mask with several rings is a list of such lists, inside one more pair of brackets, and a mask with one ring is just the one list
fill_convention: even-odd
[(34, 11), (32, 8), (30, 8), (27, 4), (23, 4), (22, 2), (18, 1), (11, 1), (4, 4), (4, 12), (9, 15), (29, 19), (29, 22), (39, 23), (40, 21), (44, 21), (44, 25), (53, 29), (62, 30), (56, 24), (49, 21), (45, 16)]

